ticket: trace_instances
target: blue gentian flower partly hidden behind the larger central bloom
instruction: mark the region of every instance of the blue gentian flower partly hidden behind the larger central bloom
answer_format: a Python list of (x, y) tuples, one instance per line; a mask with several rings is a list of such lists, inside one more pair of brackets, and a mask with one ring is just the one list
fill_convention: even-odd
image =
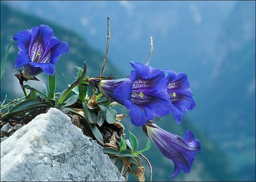
[(174, 118), (179, 124), (183, 114), (187, 110), (196, 108), (193, 94), (189, 88), (189, 82), (185, 73), (175, 73), (171, 70), (165, 70), (168, 73), (166, 77), (168, 95), (174, 107)]

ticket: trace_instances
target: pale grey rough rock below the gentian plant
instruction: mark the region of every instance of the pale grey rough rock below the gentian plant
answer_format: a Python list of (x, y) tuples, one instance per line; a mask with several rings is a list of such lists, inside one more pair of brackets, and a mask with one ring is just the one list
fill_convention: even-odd
[(102, 147), (55, 108), (1, 143), (1, 181), (123, 181)]

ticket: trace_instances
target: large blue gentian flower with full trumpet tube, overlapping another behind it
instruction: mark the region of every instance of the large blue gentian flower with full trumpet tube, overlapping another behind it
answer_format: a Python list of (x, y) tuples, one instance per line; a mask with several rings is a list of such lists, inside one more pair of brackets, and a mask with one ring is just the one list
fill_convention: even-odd
[(129, 109), (131, 121), (136, 126), (173, 112), (175, 108), (167, 93), (164, 71), (142, 63), (130, 64), (134, 70), (128, 78), (102, 80), (98, 84), (101, 92)]

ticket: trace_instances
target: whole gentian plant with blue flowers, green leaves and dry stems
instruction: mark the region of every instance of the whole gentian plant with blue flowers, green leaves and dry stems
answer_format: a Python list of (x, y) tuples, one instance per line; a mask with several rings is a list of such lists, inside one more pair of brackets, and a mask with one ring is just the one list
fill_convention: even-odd
[[(187, 110), (195, 109), (196, 104), (189, 88), (185, 73), (172, 70), (160, 70), (148, 66), (153, 50), (150, 37), (150, 51), (146, 64), (131, 62), (133, 70), (127, 78), (114, 79), (114, 76), (104, 76), (108, 57), (110, 29), (108, 17), (108, 34), (106, 54), (100, 76), (89, 77), (87, 66), (77, 67), (75, 81), (61, 93), (55, 93), (56, 73), (54, 64), (61, 55), (69, 51), (67, 42), (60, 41), (53, 35), (53, 30), (47, 25), (24, 30), (14, 35), (19, 48), (15, 68), (22, 67), (15, 76), (19, 80), (24, 97), (13, 101), (6, 99), (1, 103), (1, 127), (6, 124), (27, 124), (36, 115), (45, 113), (50, 107), (55, 107), (71, 117), (72, 122), (81, 128), (104, 147), (120, 173), (125, 177), (135, 174), (139, 181), (145, 180), (145, 160), (142, 154), (151, 147), (151, 142), (174, 163), (171, 177), (178, 175), (180, 170), (189, 172), (201, 144), (191, 130), (185, 138), (170, 133), (154, 123), (155, 117), (174, 114), (179, 124)], [(12, 41), (1, 64), (1, 78), (7, 61)], [(49, 85), (46, 93), (24, 84), (27, 80), (40, 81), (36, 76), (45, 72), (49, 75)], [(7, 73), (6, 73), (7, 74)], [(27, 93), (27, 91), (29, 93)], [(121, 120), (125, 114), (118, 114), (112, 107), (123, 105), (129, 111), (131, 123), (142, 127), (148, 141), (143, 150), (138, 151), (136, 136), (129, 131), (129, 139), (124, 133)]]

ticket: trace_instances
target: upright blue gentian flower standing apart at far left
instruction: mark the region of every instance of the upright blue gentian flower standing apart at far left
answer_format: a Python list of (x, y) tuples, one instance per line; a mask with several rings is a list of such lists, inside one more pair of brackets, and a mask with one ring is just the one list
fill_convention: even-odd
[(69, 51), (67, 42), (53, 36), (53, 31), (47, 25), (40, 25), (18, 32), (13, 40), (17, 41), (19, 49), (15, 69), (24, 66), (22, 76), (30, 79), (45, 72), (53, 75), (54, 64), (61, 55)]

